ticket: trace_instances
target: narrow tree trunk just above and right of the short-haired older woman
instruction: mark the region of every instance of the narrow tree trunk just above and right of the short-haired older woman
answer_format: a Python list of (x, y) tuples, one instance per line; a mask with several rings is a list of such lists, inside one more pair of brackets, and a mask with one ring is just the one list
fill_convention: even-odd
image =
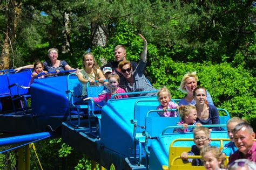
[(63, 15), (64, 29), (62, 31), (64, 41), (62, 45), (62, 53), (70, 52), (70, 13), (65, 11)]

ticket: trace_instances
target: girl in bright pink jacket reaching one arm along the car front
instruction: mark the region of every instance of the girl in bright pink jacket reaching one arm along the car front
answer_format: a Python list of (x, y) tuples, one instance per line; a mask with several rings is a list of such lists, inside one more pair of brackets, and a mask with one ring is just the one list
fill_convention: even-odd
[[(113, 94), (118, 94), (118, 93), (125, 93), (125, 90), (118, 87), (119, 85), (119, 81), (120, 81), (120, 77), (118, 74), (116, 73), (112, 73), (109, 75), (108, 77), (109, 80), (109, 88), (107, 90), (105, 90), (102, 94), (100, 94), (98, 97), (87, 97), (84, 99), (88, 100), (88, 99), (93, 99), (94, 102), (99, 103), (101, 101), (107, 101), (111, 98), (111, 96)], [(128, 95), (117, 95), (115, 96), (115, 98), (127, 98)]]

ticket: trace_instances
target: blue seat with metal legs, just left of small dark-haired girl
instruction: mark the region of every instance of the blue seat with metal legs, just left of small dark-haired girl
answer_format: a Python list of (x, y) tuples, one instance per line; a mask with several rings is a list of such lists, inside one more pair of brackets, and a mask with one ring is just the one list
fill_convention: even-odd
[(27, 98), (30, 98), (29, 91), (29, 82), (31, 79), (32, 71), (31, 69), (24, 69), (21, 72), (15, 73), (15, 71), (8, 72), (8, 83), (10, 96), (12, 101), (12, 106), (16, 112), (17, 108), (14, 101), (23, 101), (24, 106), (21, 102), (22, 110), (28, 111), (28, 101)]

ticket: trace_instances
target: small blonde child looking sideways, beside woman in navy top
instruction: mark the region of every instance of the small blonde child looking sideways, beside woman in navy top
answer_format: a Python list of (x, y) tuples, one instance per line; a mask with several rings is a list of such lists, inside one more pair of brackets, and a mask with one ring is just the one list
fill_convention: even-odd
[(194, 128), (187, 128), (188, 125), (201, 126), (201, 123), (197, 123), (197, 109), (194, 105), (181, 105), (179, 107), (179, 116), (181, 121), (177, 125), (182, 125), (183, 128), (176, 128), (174, 132), (191, 132)]

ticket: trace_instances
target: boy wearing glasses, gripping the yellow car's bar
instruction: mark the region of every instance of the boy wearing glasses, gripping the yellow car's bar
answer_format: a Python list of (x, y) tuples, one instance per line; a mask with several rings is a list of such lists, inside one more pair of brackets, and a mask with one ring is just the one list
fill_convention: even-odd
[(203, 126), (195, 128), (193, 130), (194, 134), (194, 144), (191, 147), (190, 152), (183, 152), (180, 155), (180, 158), (183, 160), (183, 163), (186, 164), (188, 162), (192, 162), (192, 166), (203, 166), (203, 162), (200, 159), (188, 159), (187, 156), (200, 155), (200, 151), (205, 147), (210, 145), (210, 130)]

